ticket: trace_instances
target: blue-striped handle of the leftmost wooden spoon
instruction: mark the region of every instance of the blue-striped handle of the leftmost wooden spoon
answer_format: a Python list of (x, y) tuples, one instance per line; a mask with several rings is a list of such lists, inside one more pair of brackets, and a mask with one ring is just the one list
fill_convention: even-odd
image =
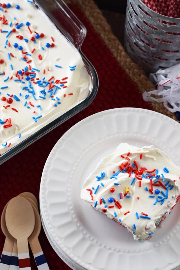
[(9, 269), (12, 251), (13, 251), (13, 245), (14, 245), (13, 238), (11, 239), (11, 238), (6, 237), (5, 242), (4, 242), (2, 255), (1, 255), (1, 261), (0, 261), (0, 269), (1, 270), (8, 270)]

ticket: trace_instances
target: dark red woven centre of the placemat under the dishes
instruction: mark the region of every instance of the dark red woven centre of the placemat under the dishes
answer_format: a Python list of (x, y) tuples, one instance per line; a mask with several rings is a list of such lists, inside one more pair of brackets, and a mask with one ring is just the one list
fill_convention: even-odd
[[(119, 65), (104, 40), (83, 15), (82, 10), (75, 6), (71, 6), (71, 8), (87, 28), (87, 37), (82, 45), (82, 52), (98, 72), (98, 94), (88, 108), (0, 166), (1, 213), (8, 200), (21, 192), (29, 191), (34, 193), (37, 199), (39, 198), (41, 174), (46, 159), (58, 139), (74, 124), (91, 114), (117, 107), (152, 109), (148, 103), (143, 101), (139, 89)], [(4, 239), (4, 235), (0, 231), (0, 252), (3, 249)], [(43, 229), (39, 240), (50, 269), (70, 269), (52, 249)], [(32, 254), (31, 265), (32, 270), (37, 269)]]

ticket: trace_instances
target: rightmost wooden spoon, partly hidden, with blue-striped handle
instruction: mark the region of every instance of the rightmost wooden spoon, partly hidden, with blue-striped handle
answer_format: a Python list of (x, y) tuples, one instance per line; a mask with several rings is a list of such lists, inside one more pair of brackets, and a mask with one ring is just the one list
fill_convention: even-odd
[(39, 243), (38, 236), (41, 231), (41, 217), (37, 208), (32, 205), (32, 208), (35, 213), (35, 227), (32, 234), (29, 236), (28, 241), (32, 250), (32, 253), (35, 257), (36, 265), (39, 270), (49, 270), (49, 266), (46, 262), (44, 253), (42, 251), (41, 245)]

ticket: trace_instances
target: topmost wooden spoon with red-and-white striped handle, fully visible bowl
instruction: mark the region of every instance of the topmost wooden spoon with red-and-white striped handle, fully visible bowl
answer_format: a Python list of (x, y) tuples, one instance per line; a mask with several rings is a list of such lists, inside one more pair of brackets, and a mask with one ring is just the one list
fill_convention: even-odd
[(28, 237), (35, 226), (35, 215), (31, 204), (20, 196), (10, 200), (5, 214), (6, 226), (17, 240), (19, 268), (30, 267)]

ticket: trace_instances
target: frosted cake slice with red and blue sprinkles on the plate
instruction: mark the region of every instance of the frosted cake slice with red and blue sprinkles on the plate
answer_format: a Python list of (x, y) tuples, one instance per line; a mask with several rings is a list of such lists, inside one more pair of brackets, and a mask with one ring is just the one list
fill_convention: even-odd
[(85, 180), (81, 199), (142, 242), (155, 232), (179, 198), (180, 167), (153, 145), (121, 143)]

